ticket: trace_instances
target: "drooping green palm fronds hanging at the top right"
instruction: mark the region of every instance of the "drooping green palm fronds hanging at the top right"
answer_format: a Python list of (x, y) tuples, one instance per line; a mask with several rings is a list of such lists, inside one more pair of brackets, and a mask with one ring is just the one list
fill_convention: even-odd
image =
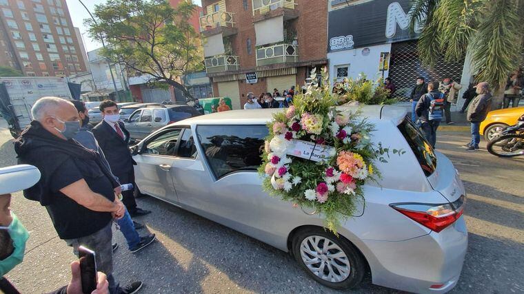
[(477, 81), (504, 87), (523, 61), (524, 0), (415, 0), (412, 28), (425, 21), (419, 54), (426, 65), (470, 54)]

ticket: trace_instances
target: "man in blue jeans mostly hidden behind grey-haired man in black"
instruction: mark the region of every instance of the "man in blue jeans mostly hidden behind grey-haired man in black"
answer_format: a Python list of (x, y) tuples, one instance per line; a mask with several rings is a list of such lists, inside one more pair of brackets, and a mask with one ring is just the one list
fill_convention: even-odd
[[(76, 136), (74, 136), (74, 140), (77, 140), (81, 145), (83, 145), (83, 147), (97, 152), (101, 162), (103, 162), (105, 167), (107, 167), (111, 172), (108, 160), (105, 159), (105, 156), (103, 155), (102, 149), (100, 149), (97, 139), (95, 139), (93, 133), (87, 129), (87, 125), (89, 123), (88, 109), (85, 107), (85, 104), (82, 101), (73, 100), (71, 101), (71, 103), (74, 105), (74, 107), (77, 109), (77, 112), (79, 113), (81, 125), (80, 131)], [(119, 182), (119, 179), (116, 176), (114, 176), (112, 172), (111, 175), (113, 176), (115, 181)], [(115, 195), (118, 196), (121, 195), (121, 193), (122, 189), (120, 185), (114, 188)], [(127, 209), (125, 209), (125, 214), (123, 218), (117, 220), (117, 224), (120, 227), (120, 231), (122, 232), (125, 240), (128, 242), (128, 249), (132, 253), (136, 253), (141, 249), (145, 248), (145, 246), (151, 244), (155, 239), (154, 234), (149, 234), (142, 237), (139, 235), (137, 229), (142, 229), (143, 225), (131, 220), (131, 216), (129, 215)]]

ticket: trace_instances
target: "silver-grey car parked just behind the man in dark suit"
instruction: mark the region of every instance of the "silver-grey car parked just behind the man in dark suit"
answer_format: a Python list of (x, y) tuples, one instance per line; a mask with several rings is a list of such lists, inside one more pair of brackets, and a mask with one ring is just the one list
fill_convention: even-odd
[(196, 108), (189, 105), (162, 105), (137, 109), (131, 116), (123, 122), (128, 129), (130, 137), (134, 140), (141, 140), (170, 123), (175, 123), (185, 118), (201, 115)]

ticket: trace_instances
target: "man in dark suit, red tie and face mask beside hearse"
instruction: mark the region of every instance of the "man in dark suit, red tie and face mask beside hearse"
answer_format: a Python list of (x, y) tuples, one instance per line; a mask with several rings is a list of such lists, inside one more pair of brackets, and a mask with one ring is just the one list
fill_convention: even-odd
[[(131, 183), (136, 187), (133, 165), (137, 165), (137, 162), (133, 160), (129, 151), (130, 136), (120, 121), (118, 105), (114, 101), (106, 100), (99, 107), (103, 120), (92, 129), (94, 137), (97, 138), (113, 174), (122, 184)], [(151, 211), (137, 207), (132, 190), (123, 191), (122, 196), (122, 202), (131, 216), (144, 216), (151, 213)]]

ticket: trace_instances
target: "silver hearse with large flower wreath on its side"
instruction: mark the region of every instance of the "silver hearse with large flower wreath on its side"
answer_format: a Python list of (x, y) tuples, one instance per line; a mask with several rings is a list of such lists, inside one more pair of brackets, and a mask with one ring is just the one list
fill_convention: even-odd
[(374, 143), (405, 154), (376, 162), (382, 178), (365, 184), (365, 199), (337, 228), (339, 236), (314, 211), (294, 209), (261, 187), (256, 169), (266, 124), (278, 111), (219, 112), (157, 130), (131, 148), (137, 187), (291, 253), (325, 286), (352, 288), (369, 270), (381, 286), (450, 291), (467, 249), (465, 191), (452, 162), (430, 147), (405, 110), (362, 107), (376, 125)]

